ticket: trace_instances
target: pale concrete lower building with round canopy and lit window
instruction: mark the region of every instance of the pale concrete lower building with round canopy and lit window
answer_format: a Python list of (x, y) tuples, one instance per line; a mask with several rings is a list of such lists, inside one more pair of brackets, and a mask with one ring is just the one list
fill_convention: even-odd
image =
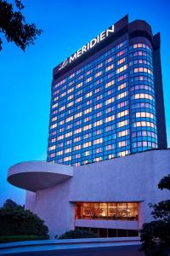
[(170, 170), (170, 150), (150, 150), (84, 166), (31, 161), (8, 170), (8, 182), (26, 189), (26, 208), (54, 237), (92, 230), (101, 237), (138, 236), (149, 203), (168, 198), (157, 184)]

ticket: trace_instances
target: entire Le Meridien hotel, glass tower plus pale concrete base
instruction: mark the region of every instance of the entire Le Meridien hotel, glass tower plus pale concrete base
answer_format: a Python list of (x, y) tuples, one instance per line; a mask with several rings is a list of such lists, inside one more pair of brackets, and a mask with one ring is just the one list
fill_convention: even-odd
[(125, 16), (54, 67), (47, 162), (10, 167), (8, 182), (52, 237), (138, 236), (148, 204), (167, 198), (169, 157), (160, 34)]

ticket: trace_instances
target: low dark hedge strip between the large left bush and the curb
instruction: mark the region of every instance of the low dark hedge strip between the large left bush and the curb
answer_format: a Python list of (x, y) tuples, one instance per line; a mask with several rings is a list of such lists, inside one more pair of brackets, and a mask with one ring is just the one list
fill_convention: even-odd
[(46, 240), (49, 239), (49, 236), (31, 236), (31, 235), (24, 235), (24, 236), (0, 236), (0, 243), (3, 242), (12, 242), (12, 241), (34, 241), (34, 240)]

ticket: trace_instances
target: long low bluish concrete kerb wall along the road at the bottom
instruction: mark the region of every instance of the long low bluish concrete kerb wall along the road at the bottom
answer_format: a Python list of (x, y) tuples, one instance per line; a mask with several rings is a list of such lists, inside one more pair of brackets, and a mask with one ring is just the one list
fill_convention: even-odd
[(139, 245), (137, 237), (84, 238), (46, 241), (15, 241), (0, 244), (0, 254), (36, 251), (67, 250), (93, 247), (117, 247)]

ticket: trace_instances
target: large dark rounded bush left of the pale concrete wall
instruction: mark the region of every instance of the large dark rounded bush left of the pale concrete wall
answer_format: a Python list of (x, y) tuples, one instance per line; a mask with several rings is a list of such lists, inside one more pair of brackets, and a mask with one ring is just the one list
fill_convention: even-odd
[(41, 218), (14, 201), (7, 200), (0, 208), (0, 236), (47, 236), (48, 227)]

